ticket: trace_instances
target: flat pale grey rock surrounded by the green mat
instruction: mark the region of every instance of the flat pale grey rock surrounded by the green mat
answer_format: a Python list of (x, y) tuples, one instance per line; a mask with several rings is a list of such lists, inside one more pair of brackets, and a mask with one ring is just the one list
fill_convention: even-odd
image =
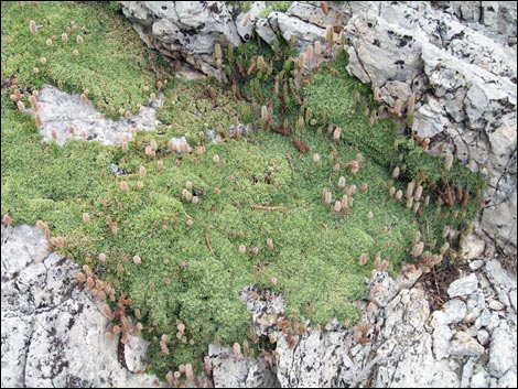
[[(53, 86), (44, 86), (37, 96), (40, 128), (43, 142), (53, 141), (52, 129), (57, 133), (56, 143), (65, 144), (68, 139), (95, 140), (104, 144), (120, 143), (123, 137), (132, 138), (130, 127), (139, 130), (153, 130), (157, 112), (153, 107), (143, 107), (142, 112), (130, 119), (106, 119), (90, 101), (83, 102), (79, 95), (68, 95)], [(68, 128), (74, 128), (74, 133)]]

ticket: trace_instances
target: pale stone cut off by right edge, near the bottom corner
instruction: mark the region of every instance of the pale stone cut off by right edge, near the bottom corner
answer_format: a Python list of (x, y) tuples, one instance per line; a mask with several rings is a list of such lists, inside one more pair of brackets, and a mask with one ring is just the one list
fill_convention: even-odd
[[(516, 329), (515, 329), (516, 331)], [(489, 363), (492, 376), (503, 377), (511, 367), (516, 371), (516, 332), (515, 335), (504, 328), (495, 328), (489, 345)]]

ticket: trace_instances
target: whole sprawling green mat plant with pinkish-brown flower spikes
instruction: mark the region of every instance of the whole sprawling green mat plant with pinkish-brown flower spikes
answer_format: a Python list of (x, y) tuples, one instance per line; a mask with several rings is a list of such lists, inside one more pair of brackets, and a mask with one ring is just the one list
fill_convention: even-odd
[[(166, 71), (155, 79), (138, 36), (106, 4), (2, 3), (2, 34), (3, 219), (37, 223), (79, 262), (78, 283), (114, 321), (107, 335), (150, 339), (151, 367), (168, 381), (206, 369), (212, 342), (239, 354), (266, 347), (250, 332), (244, 287), (283, 294), (293, 331), (333, 317), (353, 325), (373, 269), (453, 258), (470, 228), (481, 179), (373, 119), (379, 107), (345, 73), (345, 53), (322, 63), (337, 55), (332, 43), (301, 57), (285, 42), (220, 42), (228, 85), (217, 85), (165, 82)], [(29, 106), (44, 83), (88, 89), (111, 116), (163, 93), (162, 123), (120, 145), (42, 144), (11, 95)], [(195, 151), (172, 150), (173, 137)]]

